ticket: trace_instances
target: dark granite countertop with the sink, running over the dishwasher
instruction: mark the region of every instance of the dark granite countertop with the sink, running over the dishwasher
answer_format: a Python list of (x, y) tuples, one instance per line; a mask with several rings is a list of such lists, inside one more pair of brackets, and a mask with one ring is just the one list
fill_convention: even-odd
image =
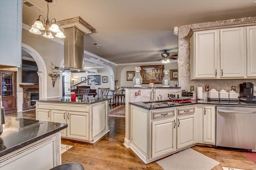
[[(167, 101), (163, 100), (162, 102)], [(186, 103), (175, 103), (175, 105), (152, 105), (148, 103), (149, 101), (138, 101), (138, 102), (129, 102), (129, 104), (141, 107), (143, 109), (152, 110), (152, 109), (162, 109), (168, 107), (179, 107), (186, 105), (195, 105), (195, 104), (207, 104), (207, 105), (232, 105), (232, 106), (254, 106), (256, 107), (256, 103), (253, 102), (243, 102), (243, 101), (191, 101)], [(157, 101), (159, 103), (161, 101)], [(173, 102), (172, 102), (173, 103)]]

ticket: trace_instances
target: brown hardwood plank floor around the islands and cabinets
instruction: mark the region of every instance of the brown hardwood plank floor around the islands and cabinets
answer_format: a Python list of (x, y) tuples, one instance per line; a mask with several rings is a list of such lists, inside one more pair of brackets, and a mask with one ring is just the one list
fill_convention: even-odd
[[(112, 105), (109, 109), (117, 106)], [(36, 119), (35, 110), (10, 113), (6, 116)], [(109, 117), (109, 127), (110, 132), (94, 144), (62, 138), (62, 144), (73, 146), (62, 154), (62, 163), (79, 162), (86, 170), (162, 170), (156, 162), (144, 164), (130, 148), (123, 145), (125, 137), (124, 117)], [(240, 151), (205, 146), (193, 146), (192, 149), (220, 162), (212, 170), (222, 170), (222, 166), (256, 170), (256, 164)]]

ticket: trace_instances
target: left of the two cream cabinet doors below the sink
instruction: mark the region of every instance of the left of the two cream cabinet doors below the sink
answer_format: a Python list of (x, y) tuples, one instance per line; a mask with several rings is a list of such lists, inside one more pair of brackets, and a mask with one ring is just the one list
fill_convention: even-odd
[(152, 122), (152, 158), (176, 150), (176, 122), (166, 119)]

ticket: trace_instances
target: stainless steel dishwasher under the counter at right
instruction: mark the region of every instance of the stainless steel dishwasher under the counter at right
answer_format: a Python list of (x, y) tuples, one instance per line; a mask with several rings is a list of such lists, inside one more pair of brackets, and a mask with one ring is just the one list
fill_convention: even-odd
[(216, 146), (256, 150), (256, 107), (217, 106)]

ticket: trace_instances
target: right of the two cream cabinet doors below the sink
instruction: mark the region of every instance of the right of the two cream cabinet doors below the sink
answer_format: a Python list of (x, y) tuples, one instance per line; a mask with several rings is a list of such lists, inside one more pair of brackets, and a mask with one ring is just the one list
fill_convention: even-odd
[(195, 143), (194, 115), (177, 117), (177, 148)]

